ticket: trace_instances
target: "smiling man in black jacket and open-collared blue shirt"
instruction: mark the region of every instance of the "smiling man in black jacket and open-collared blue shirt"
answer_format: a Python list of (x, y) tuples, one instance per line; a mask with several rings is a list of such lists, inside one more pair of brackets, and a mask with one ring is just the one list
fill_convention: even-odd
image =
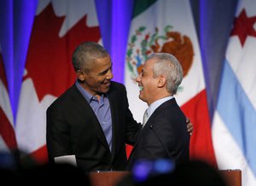
[(84, 171), (125, 170), (125, 143), (135, 143), (140, 124), (132, 117), (125, 86), (111, 81), (108, 51), (96, 43), (80, 44), (73, 67), (77, 81), (47, 109), (49, 161), (73, 155)]

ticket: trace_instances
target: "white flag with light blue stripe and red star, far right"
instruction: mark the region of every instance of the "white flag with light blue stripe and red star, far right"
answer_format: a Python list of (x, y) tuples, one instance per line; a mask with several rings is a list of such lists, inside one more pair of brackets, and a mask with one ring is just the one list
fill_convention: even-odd
[(240, 169), (256, 185), (256, 2), (241, 0), (230, 33), (212, 141), (219, 169)]

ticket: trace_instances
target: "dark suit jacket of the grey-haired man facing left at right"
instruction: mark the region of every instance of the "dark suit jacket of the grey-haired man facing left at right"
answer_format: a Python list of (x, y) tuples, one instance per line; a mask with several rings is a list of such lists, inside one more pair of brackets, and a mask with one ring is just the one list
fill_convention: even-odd
[(131, 151), (128, 169), (135, 160), (171, 159), (189, 161), (189, 133), (186, 117), (175, 98), (164, 102), (149, 117)]

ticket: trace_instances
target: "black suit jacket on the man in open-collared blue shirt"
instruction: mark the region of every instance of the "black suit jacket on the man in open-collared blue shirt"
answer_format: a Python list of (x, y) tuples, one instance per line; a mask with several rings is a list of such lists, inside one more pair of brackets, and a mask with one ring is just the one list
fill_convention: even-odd
[(125, 142), (134, 144), (139, 125), (133, 119), (125, 86), (112, 82), (108, 98), (113, 122), (112, 152), (102, 127), (75, 84), (47, 109), (49, 161), (74, 154), (84, 171), (125, 170)]

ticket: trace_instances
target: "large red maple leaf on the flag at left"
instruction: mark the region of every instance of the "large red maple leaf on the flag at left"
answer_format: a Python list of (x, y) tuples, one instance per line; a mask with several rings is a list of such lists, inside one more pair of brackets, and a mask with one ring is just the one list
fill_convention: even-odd
[(60, 38), (64, 19), (55, 15), (50, 3), (34, 20), (24, 79), (32, 78), (39, 101), (49, 94), (60, 96), (74, 83), (73, 50), (84, 41), (98, 42), (101, 38), (99, 26), (85, 25), (86, 16)]

